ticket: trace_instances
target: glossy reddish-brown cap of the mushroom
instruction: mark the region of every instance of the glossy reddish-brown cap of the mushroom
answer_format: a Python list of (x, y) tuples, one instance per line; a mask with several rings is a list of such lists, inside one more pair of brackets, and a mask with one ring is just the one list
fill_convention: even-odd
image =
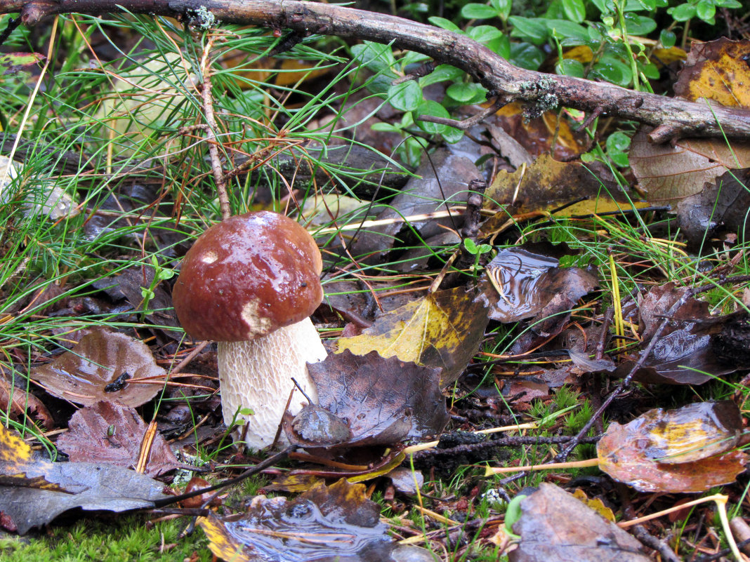
[(270, 211), (207, 229), (182, 262), (172, 300), (196, 339), (239, 342), (310, 316), (323, 300), (323, 262), (313, 237)]

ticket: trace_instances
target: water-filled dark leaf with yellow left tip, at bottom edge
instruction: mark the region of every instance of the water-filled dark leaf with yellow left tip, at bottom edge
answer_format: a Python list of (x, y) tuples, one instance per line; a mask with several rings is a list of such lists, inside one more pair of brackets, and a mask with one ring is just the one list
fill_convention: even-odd
[(318, 483), (293, 501), (256, 496), (248, 513), (202, 518), (208, 548), (233, 562), (392, 561), (395, 547), (364, 484)]

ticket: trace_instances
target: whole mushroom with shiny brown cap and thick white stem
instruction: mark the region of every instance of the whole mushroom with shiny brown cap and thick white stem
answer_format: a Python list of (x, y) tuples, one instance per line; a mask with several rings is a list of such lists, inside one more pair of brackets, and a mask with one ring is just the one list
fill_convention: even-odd
[[(224, 422), (251, 408), (246, 442), (274, 441), (294, 387), (317, 400), (307, 363), (326, 358), (310, 315), (323, 300), (323, 261), (295, 221), (260, 211), (207, 229), (188, 250), (172, 298), (184, 330), (214, 339)], [(291, 402), (295, 414), (301, 405)]]

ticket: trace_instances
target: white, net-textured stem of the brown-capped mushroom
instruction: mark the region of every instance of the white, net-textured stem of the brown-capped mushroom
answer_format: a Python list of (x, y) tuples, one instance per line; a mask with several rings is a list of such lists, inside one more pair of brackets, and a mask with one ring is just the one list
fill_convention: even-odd
[[(224, 423), (232, 423), (238, 408), (251, 408), (254, 415), (239, 416), (248, 425), (245, 441), (250, 447), (261, 449), (273, 443), (290, 391), (295, 388), (292, 378), (317, 402), (306, 363), (322, 361), (327, 354), (310, 318), (248, 342), (218, 342), (218, 349)], [(295, 389), (289, 410), (296, 414), (306, 403), (305, 396)], [(286, 441), (284, 432), (281, 438)]]

